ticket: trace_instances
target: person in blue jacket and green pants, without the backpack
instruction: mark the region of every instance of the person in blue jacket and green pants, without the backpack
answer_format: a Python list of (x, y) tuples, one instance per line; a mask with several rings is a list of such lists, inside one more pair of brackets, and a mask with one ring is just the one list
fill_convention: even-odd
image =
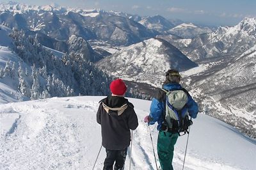
[[(166, 89), (167, 91), (179, 89), (186, 91), (186, 89), (182, 88), (182, 86), (179, 84), (180, 78), (181, 76), (177, 70), (168, 70), (168, 72), (166, 72), (166, 79), (163, 83), (163, 89)], [(150, 114), (144, 118), (144, 121), (149, 125), (153, 125), (157, 121), (157, 130), (159, 130), (157, 139), (157, 154), (159, 157), (159, 162), (163, 170), (171, 170), (173, 169), (172, 159), (174, 145), (179, 137), (179, 133), (169, 130), (166, 131), (165, 129), (163, 130), (166, 104), (166, 92), (163, 91), (163, 89), (157, 90), (156, 97), (152, 99), (152, 103), (150, 105)], [(186, 107), (188, 109), (189, 116), (191, 116), (191, 118), (196, 118), (198, 113), (198, 105), (189, 95), (188, 91), (186, 91), (186, 93), (188, 95)]]

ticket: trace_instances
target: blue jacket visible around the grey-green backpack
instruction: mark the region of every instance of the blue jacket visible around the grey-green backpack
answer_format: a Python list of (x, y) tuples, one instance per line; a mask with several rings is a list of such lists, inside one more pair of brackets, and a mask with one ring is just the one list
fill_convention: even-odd
[[(168, 90), (176, 90), (176, 89), (182, 89), (182, 86), (178, 83), (168, 83), (164, 84), (164, 89)], [(150, 122), (148, 122), (149, 125), (153, 125), (154, 123), (158, 123), (157, 130), (161, 129), (161, 125), (164, 121), (163, 115), (165, 114), (165, 100), (166, 100), (166, 93), (159, 89), (157, 91), (156, 97), (152, 99), (151, 105), (150, 105)], [(198, 105), (193, 100), (193, 98), (188, 93), (188, 113), (191, 118), (196, 118), (196, 115), (198, 113)]]

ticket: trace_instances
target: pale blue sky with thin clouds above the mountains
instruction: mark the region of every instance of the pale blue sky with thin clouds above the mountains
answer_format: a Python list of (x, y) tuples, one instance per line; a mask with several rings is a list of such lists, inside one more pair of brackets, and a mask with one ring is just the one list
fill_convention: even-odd
[[(7, 2), (5, 0), (1, 0)], [(19, 0), (24, 4), (60, 6), (84, 9), (100, 8), (138, 15), (162, 15), (195, 24), (232, 26), (244, 17), (256, 17), (255, 0)]]

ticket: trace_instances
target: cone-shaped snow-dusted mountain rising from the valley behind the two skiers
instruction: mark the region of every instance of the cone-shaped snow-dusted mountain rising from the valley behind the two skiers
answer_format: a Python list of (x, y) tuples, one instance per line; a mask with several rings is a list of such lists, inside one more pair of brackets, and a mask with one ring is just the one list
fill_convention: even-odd
[(150, 38), (100, 60), (97, 66), (116, 77), (157, 86), (169, 68), (188, 70), (196, 63), (165, 40)]

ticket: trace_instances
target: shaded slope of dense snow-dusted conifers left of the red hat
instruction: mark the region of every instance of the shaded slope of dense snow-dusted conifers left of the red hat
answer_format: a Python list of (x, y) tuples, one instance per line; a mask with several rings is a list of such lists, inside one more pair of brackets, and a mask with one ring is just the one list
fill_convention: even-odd
[[(25, 68), (24, 79), (30, 83), (27, 84), (29, 87), (32, 86), (31, 98), (40, 98), (45, 89), (51, 97), (74, 96), (79, 93), (108, 95), (111, 78), (95, 68), (88, 61), (87, 54), (71, 50), (63, 55), (63, 58), (58, 58), (38, 42), (38, 38), (35, 38), (38, 35), (26, 35), (24, 31), (13, 30), (11, 36), (15, 40), (13, 49), (16, 54), (27, 65), (33, 65), (35, 68), (32, 68), (31, 77), (30, 71)], [(45, 86), (45, 89), (42, 89), (42, 86)]]

